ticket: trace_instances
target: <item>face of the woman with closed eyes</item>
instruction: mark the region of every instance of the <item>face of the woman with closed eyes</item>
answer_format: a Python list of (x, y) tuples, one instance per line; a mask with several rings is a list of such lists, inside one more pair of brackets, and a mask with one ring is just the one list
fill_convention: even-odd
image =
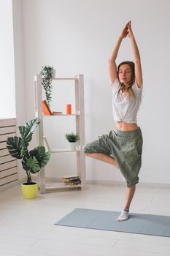
[(122, 64), (119, 67), (118, 76), (120, 83), (131, 82), (131, 67), (128, 64)]

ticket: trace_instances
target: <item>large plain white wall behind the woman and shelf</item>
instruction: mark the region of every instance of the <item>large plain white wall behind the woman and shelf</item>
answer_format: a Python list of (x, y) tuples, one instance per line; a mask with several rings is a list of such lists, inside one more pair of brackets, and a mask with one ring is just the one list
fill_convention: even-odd
[[(58, 77), (85, 75), (87, 142), (113, 129), (107, 60), (121, 29), (131, 19), (144, 74), (139, 111), (144, 150), (139, 177), (142, 182), (169, 184), (169, 9), (169, 0), (23, 0), (27, 118), (34, 117), (34, 75), (47, 64), (57, 67)], [(132, 59), (128, 38), (121, 45), (117, 63), (126, 59)], [(54, 110), (58, 108), (55, 94), (58, 95), (60, 86), (68, 97), (66, 87), (56, 86)], [(48, 120), (46, 136), (55, 146), (64, 140), (58, 135), (67, 123), (58, 118)], [(47, 175), (62, 176), (66, 170), (74, 171), (72, 157), (69, 161), (66, 157), (69, 156), (53, 156)], [(123, 180), (112, 166), (93, 159), (87, 159), (87, 178)]]

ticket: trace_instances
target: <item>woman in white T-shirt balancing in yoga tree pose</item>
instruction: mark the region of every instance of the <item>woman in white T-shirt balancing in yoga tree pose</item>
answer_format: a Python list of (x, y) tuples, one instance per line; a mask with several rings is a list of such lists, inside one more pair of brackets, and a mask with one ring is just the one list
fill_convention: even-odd
[[(115, 60), (120, 44), (129, 37), (134, 62), (123, 61), (116, 66)], [(112, 106), (115, 131), (102, 135), (84, 146), (88, 157), (107, 162), (120, 169), (127, 187), (123, 211), (117, 221), (128, 219), (131, 200), (134, 197), (142, 159), (142, 132), (136, 123), (136, 116), (142, 98), (142, 67), (139, 50), (129, 21), (117, 39), (109, 59), (109, 77), (112, 86)]]

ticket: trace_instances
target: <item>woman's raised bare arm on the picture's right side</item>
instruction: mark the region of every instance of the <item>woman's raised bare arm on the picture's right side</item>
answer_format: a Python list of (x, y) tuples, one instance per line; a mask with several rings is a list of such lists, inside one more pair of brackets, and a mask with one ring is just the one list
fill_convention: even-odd
[(141, 59), (139, 49), (136, 44), (136, 39), (131, 29), (131, 21), (128, 22), (128, 37), (131, 40), (131, 47), (134, 56), (134, 64), (135, 64), (135, 80), (137, 83), (138, 88), (142, 86), (142, 67), (141, 67)]

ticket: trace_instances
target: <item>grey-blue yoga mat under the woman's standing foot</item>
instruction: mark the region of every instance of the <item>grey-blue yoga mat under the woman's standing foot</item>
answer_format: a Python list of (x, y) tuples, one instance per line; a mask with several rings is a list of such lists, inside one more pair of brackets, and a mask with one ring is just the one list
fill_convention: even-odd
[(55, 225), (170, 237), (169, 216), (131, 213), (127, 221), (117, 222), (119, 215), (118, 211), (75, 208)]

